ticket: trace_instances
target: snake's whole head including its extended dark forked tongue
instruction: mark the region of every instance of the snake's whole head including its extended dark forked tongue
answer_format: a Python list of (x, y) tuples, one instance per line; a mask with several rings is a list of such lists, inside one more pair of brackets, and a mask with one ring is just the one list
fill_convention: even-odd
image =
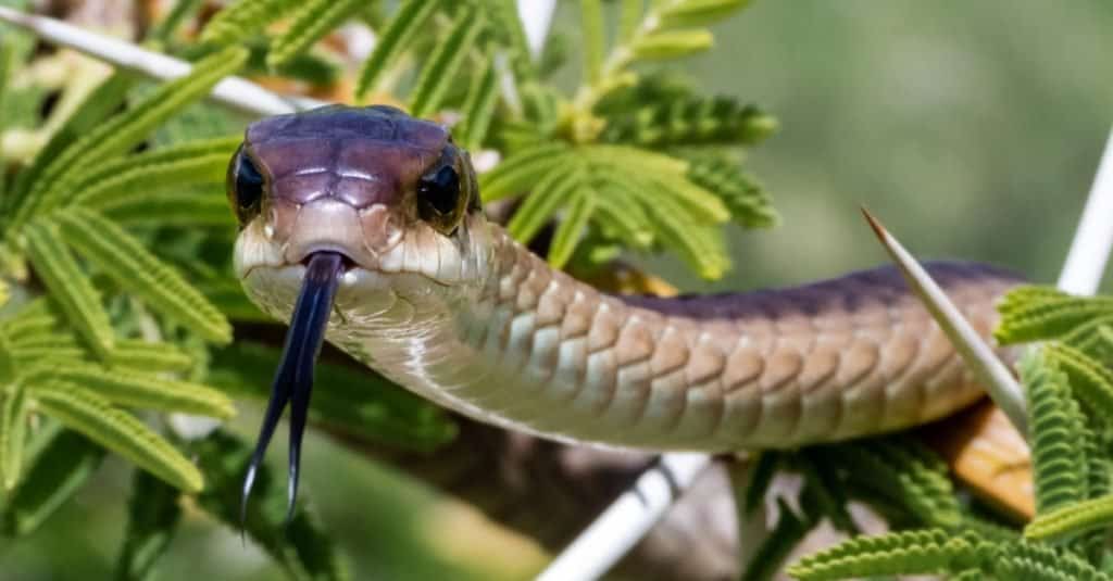
[[(335, 307), (383, 316), (410, 304), (400, 288), (427, 296), (477, 277), (473, 230), (483, 218), (475, 173), (441, 125), (392, 107), (333, 106), (252, 124), (227, 184), (240, 227), (237, 273), (256, 304), (290, 322), (245, 503), (290, 403), (293, 506), (312, 372), (329, 315)], [(375, 306), (376, 297), (386, 306)], [(414, 323), (412, 308), (391, 312), (404, 315), (395, 323)]]

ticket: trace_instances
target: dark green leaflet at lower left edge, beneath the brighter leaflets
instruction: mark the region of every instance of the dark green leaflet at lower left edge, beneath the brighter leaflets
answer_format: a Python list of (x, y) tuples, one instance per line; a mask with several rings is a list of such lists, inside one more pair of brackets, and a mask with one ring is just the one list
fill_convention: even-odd
[(35, 437), (28, 470), (9, 496), (2, 528), (12, 536), (30, 534), (69, 500), (100, 466), (101, 449), (80, 435), (48, 427)]

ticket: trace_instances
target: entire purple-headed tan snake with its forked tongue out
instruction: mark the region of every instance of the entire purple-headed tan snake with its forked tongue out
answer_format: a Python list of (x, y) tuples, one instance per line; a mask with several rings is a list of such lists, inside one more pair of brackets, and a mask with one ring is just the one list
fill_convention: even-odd
[[(608, 294), (487, 219), (451, 130), (393, 107), (250, 124), (227, 195), (236, 276), (253, 303), (289, 322), (245, 503), (289, 405), (293, 510), (325, 341), (480, 422), (653, 452), (850, 440), (984, 395), (892, 266), (746, 293)], [(976, 263), (925, 266), (989, 339), (997, 299), (1021, 278)]]

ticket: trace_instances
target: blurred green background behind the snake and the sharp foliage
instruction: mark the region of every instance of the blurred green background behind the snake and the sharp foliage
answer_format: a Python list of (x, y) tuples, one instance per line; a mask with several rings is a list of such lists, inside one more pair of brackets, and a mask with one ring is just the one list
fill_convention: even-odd
[[(573, 33), (575, 2), (561, 3), (556, 27)], [(919, 256), (1055, 280), (1113, 120), (1113, 3), (766, 0), (716, 32), (710, 55), (676, 68), (779, 118), (749, 164), (784, 223), (732, 232), (736, 265), (721, 282), (669, 259), (651, 260), (653, 270), (686, 289), (725, 290), (869, 267), (885, 256), (858, 214), (865, 205)], [(254, 435), (256, 420), (244, 414), (240, 432)], [(355, 579), (513, 579), (540, 562), (526, 544), (484, 540), (420, 483), (321, 437), (306, 449), (304, 490)], [(0, 580), (110, 578), (128, 479), (107, 462), (35, 535), (0, 546)], [(278, 574), (234, 532), (191, 519), (157, 579)]]

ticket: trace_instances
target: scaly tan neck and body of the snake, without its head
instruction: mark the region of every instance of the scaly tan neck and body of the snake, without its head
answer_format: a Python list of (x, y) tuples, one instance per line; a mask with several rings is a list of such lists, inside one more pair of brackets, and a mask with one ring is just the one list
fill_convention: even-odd
[[(981, 396), (895, 270), (781, 290), (618, 297), (485, 225), (475, 277), (397, 278), (334, 317), (333, 343), (476, 420), (560, 441), (709, 452), (844, 440), (924, 423)], [(983, 335), (1016, 283), (929, 270)]]

